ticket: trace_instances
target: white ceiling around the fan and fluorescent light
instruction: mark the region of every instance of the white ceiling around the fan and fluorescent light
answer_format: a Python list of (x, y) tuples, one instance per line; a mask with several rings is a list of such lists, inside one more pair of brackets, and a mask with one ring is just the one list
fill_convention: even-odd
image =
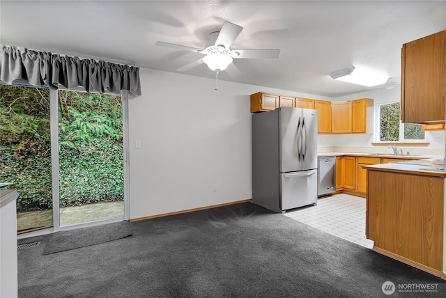
[[(242, 74), (220, 79), (338, 97), (371, 89), (328, 77), (350, 65), (399, 82), (401, 45), (446, 29), (446, 1), (1, 0), (0, 42), (175, 72), (203, 55), (154, 43), (203, 48), (225, 21), (244, 27), (231, 49), (281, 54), (234, 59)], [(215, 77), (205, 64), (183, 73)]]

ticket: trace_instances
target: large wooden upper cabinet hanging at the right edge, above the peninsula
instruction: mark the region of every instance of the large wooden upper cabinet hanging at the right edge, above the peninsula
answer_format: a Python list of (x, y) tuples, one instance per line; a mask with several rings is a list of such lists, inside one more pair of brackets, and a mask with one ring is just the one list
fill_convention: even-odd
[(446, 30), (403, 44), (401, 121), (444, 123)]

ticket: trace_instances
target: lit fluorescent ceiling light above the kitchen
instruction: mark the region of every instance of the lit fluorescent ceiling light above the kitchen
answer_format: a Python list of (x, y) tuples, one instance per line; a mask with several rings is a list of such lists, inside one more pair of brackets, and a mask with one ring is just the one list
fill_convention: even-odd
[(348, 83), (367, 87), (385, 84), (389, 79), (387, 75), (383, 75), (380, 72), (364, 68), (355, 68), (354, 66), (350, 66), (344, 70), (338, 70), (337, 72), (332, 72), (330, 77), (338, 79), (339, 81), (346, 81)]

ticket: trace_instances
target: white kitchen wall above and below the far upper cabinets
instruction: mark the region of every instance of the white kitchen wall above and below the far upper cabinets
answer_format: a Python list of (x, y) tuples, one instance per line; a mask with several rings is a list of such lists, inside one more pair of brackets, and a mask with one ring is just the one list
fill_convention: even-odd
[[(379, 88), (371, 91), (356, 93), (336, 97), (332, 101), (357, 100), (360, 98), (372, 98), (374, 104), (382, 102), (394, 102), (401, 99), (401, 86), (397, 85), (393, 89)], [(445, 151), (445, 132), (425, 132), (428, 147), (401, 147), (403, 152), (410, 151), (410, 154), (420, 155), (444, 155)], [(329, 134), (319, 136), (320, 151), (326, 151), (323, 147), (330, 147), (335, 150), (346, 152), (387, 152), (392, 150), (387, 147), (373, 147), (374, 134)], [(400, 147), (399, 147), (400, 148)]]

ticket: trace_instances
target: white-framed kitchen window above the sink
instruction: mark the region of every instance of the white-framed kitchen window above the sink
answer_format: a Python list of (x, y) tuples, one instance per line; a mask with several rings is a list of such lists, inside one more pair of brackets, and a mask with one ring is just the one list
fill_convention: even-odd
[(399, 102), (376, 104), (376, 142), (424, 141), (420, 124), (401, 123)]

